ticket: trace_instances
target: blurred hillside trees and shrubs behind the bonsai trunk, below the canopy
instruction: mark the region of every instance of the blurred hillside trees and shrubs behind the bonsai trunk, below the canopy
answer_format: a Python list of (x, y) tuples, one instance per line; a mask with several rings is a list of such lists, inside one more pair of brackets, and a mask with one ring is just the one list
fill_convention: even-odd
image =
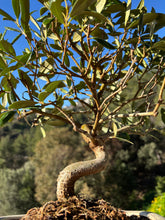
[[(59, 172), (67, 164), (91, 158), (88, 146), (70, 127), (45, 129), (45, 138), (39, 127), (30, 128), (23, 120), (0, 129), (1, 215), (25, 213), (55, 200)], [(165, 130), (163, 126), (159, 130), (130, 136), (133, 145), (111, 140), (107, 169), (80, 179), (76, 193), (104, 198), (122, 209), (149, 209), (164, 215), (160, 205), (164, 206), (165, 193)]]

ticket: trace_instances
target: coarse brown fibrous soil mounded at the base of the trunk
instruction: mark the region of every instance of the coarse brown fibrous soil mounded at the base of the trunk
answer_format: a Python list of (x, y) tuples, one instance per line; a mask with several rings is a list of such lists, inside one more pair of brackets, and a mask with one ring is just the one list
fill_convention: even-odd
[(89, 201), (77, 197), (50, 201), (40, 208), (32, 208), (21, 220), (149, 220), (147, 217), (128, 217), (120, 209), (104, 200)]

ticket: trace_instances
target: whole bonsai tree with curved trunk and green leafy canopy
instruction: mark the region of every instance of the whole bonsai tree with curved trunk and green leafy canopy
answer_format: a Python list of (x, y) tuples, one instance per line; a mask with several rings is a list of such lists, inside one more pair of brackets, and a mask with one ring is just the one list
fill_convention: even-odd
[[(165, 40), (157, 31), (165, 14), (147, 12), (144, 0), (136, 9), (131, 0), (39, 2), (39, 18), (29, 0), (12, 0), (15, 17), (0, 9), (10, 21), (0, 35), (0, 125), (34, 114), (42, 131), (45, 123), (70, 124), (82, 135), (95, 159), (61, 171), (61, 200), (74, 195), (80, 177), (105, 169), (107, 141), (152, 129), (151, 117), (164, 104)], [(15, 38), (7, 40), (6, 32)]]

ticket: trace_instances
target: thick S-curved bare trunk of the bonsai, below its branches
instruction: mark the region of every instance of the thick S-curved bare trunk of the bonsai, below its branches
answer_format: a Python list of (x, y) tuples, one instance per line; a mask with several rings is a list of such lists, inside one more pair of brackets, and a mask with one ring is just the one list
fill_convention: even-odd
[(107, 154), (104, 146), (90, 146), (95, 159), (80, 161), (65, 167), (57, 179), (57, 198), (59, 200), (74, 195), (74, 184), (82, 176), (98, 173), (105, 169)]

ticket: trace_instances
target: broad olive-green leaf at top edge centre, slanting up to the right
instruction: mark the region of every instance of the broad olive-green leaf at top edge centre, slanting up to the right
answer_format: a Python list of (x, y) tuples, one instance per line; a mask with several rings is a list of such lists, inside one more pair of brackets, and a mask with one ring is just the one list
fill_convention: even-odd
[(77, 0), (73, 7), (72, 7), (72, 11), (70, 13), (71, 17), (77, 16), (79, 14), (82, 14), (85, 10), (88, 9), (88, 7), (90, 5), (92, 5), (93, 3), (97, 2), (97, 0)]

